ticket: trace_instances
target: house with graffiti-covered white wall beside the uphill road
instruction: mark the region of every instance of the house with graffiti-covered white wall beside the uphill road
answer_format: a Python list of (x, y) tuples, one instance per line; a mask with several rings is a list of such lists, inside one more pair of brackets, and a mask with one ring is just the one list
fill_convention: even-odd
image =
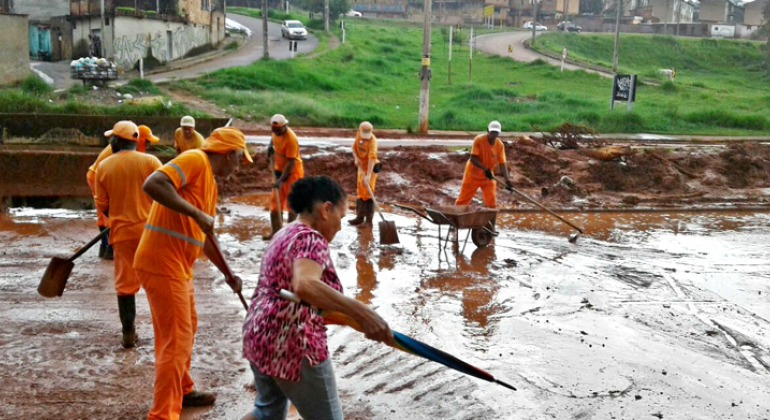
[(140, 58), (177, 60), (225, 37), (224, 0), (70, 0), (69, 5), (74, 54), (86, 55), (98, 36), (102, 55), (126, 69)]

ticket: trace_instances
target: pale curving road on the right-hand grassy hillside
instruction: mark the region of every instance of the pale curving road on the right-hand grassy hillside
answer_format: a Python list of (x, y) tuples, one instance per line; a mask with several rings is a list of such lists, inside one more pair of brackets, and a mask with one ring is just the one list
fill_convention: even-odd
[[(538, 32), (537, 36), (542, 35), (542, 32)], [(532, 51), (524, 47), (524, 41), (532, 38), (532, 32), (503, 32), (480, 35), (476, 37), (476, 48), (487, 54), (499, 55), (501, 57), (510, 57), (516, 61), (523, 61), (529, 63), (535, 60), (543, 60), (546, 63), (554, 66), (561, 66), (561, 61), (547, 57), (542, 54), (538, 54), (536, 51)], [(535, 38), (537, 42), (537, 38)], [(512, 49), (512, 52), (508, 52), (508, 47)], [(587, 69), (585, 67), (576, 66), (570, 63), (564, 63), (564, 68), (568, 70), (583, 70), (588, 73), (596, 73), (604, 77), (612, 77), (612, 74), (596, 71), (593, 69)]]

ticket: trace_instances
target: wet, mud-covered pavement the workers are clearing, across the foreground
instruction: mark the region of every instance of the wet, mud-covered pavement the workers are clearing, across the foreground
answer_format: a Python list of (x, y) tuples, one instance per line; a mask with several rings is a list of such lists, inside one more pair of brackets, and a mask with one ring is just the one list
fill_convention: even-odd
[[(226, 200), (217, 220), (248, 294), (266, 246), (266, 201)], [(493, 245), (469, 242), (463, 253), (440, 250), (435, 225), (403, 214), (386, 215), (398, 246), (380, 246), (376, 226), (345, 226), (332, 248), (346, 294), (519, 389), (335, 326), (346, 418), (770, 418), (770, 214), (566, 216), (586, 227), (576, 244), (546, 215), (504, 214)], [(0, 215), (0, 418), (146, 415), (153, 348), (143, 292), (140, 345), (123, 350), (112, 264), (96, 250), (78, 260), (62, 298), (35, 291), (51, 256), (96, 233), (92, 212)], [(240, 356), (244, 311), (207, 262), (196, 265), (195, 287), (192, 374), (219, 399), (183, 418), (239, 418), (254, 395)]]

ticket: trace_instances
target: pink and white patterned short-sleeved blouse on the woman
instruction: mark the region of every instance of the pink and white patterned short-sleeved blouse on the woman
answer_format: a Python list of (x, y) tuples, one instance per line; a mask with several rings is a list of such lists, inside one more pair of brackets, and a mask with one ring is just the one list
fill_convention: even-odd
[(300, 258), (320, 264), (321, 281), (342, 292), (329, 243), (310, 226), (291, 223), (273, 237), (262, 256), (259, 284), (243, 324), (243, 357), (263, 374), (289, 381), (299, 380), (302, 359), (315, 366), (329, 358), (323, 318), (278, 295), (281, 289), (293, 291), (292, 267)]

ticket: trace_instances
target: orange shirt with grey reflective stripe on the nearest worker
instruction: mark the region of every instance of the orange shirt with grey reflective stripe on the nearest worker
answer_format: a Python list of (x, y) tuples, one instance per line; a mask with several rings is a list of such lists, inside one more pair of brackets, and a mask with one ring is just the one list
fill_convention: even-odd
[[(214, 216), (217, 183), (206, 153), (189, 150), (164, 165), (177, 193), (206, 214)], [(134, 258), (134, 268), (161, 276), (190, 279), (206, 235), (193, 219), (157, 202), (152, 204)]]

